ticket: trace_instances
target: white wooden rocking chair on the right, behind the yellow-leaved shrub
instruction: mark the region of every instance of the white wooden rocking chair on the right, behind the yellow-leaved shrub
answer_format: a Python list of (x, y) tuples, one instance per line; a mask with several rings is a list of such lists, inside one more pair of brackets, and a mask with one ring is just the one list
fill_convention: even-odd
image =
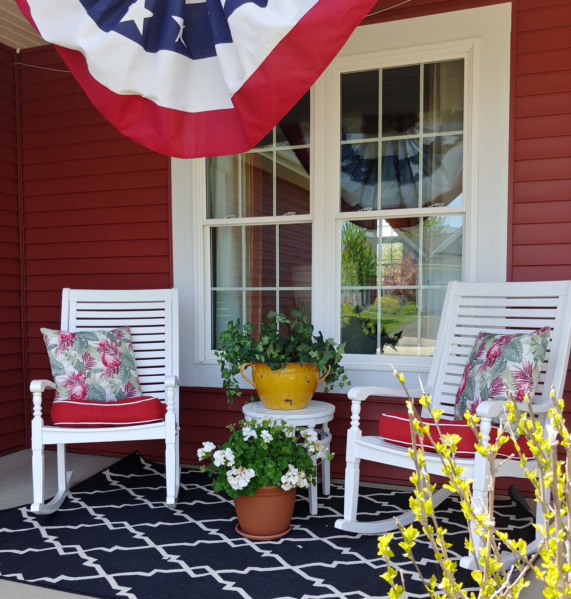
[[(551, 327), (551, 340), (539, 377), (536, 393), (533, 397), (534, 413), (545, 423), (546, 412), (552, 407), (549, 398), (551, 385), (555, 391), (563, 393), (563, 383), (569, 364), (569, 348), (571, 344), (571, 295), (569, 281), (552, 281), (537, 283), (460, 283), (448, 284), (442, 309), (439, 331), (434, 347), (434, 357), (428, 373), (425, 391), (432, 395), (434, 407), (445, 411), (442, 418), (454, 419), (454, 401), (464, 365), (474, 343), (476, 335), (481, 331), (499, 334), (514, 332), (530, 332), (543, 326)], [(420, 389), (409, 389), (413, 398), (421, 395)], [(403, 389), (383, 387), (354, 387), (348, 392), (351, 399), (351, 428), (347, 433), (347, 466), (345, 470), (345, 508), (343, 519), (336, 521), (336, 528), (352, 533), (382, 534), (397, 530), (394, 518), (376, 522), (359, 522), (357, 519), (357, 500), (359, 494), (359, 462), (367, 459), (379, 464), (390, 464), (409, 470), (412, 460), (407, 456), (407, 448), (388, 443), (380, 437), (364, 437), (359, 428), (361, 401), (370, 395), (406, 397)], [(403, 399), (404, 402), (404, 399)], [(522, 409), (522, 406), (519, 406)], [(482, 442), (487, 443), (491, 430), (491, 419), (503, 412), (503, 403), (486, 401), (476, 409), (481, 418), (480, 432)], [(427, 410), (422, 417), (430, 418)], [(472, 434), (469, 431), (469, 434)], [(431, 474), (442, 474), (440, 459), (436, 453), (426, 453), (428, 471)], [(466, 477), (474, 479), (473, 502), (481, 506), (482, 498), (487, 492), (490, 482), (490, 465), (479, 453), (473, 459), (457, 458), (457, 463), (467, 468)], [(497, 459), (499, 467), (501, 459)], [(534, 469), (534, 461), (528, 460), (528, 468)], [(504, 463), (497, 476), (524, 478), (519, 459), (511, 459)], [(434, 494), (434, 506), (442, 503), (450, 495), (449, 491), (440, 489)], [(543, 524), (542, 507), (536, 504), (536, 521)], [(415, 521), (411, 512), (398, 516), (403, 525)], [(537, 538), (528, 544), (528, 552), (536, 550)], [(475, 544), (479, 539), (475, 536)], [(504, 564), (513, 563), (513, 554), (502, 554)], [(510, 559), (511, 558), (511, 559)], [(461, 559), (464, 568), (475, 569), (476, 562), (472, 555)]]

